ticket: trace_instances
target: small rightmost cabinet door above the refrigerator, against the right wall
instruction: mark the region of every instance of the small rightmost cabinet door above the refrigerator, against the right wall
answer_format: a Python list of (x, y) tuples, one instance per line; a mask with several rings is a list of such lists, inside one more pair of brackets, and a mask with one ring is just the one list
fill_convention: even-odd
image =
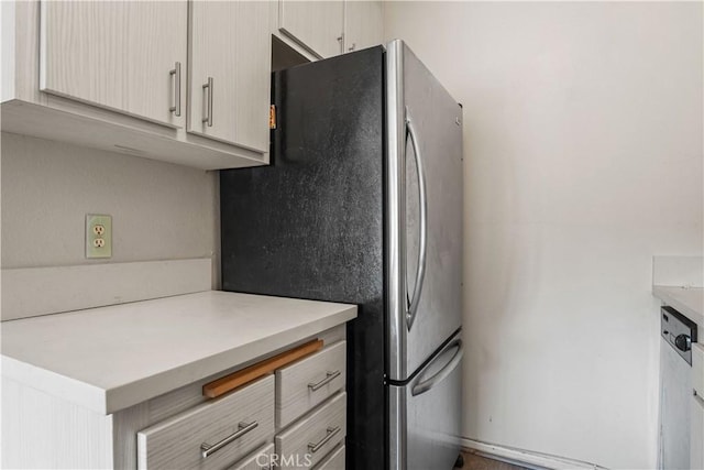
[(384, 40), (381, 1), (346, 1), (344, 12), (344, 52), (381, 44)]

